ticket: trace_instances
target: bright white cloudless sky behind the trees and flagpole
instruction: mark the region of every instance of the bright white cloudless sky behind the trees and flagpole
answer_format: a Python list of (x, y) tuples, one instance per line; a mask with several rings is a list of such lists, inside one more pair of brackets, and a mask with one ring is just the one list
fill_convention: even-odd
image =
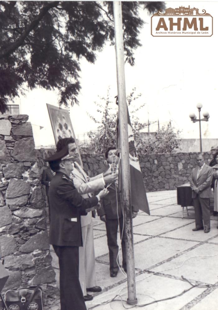
[[(141, 93), (137, 104), (145, 103), (137, 116), (141, 122), (157, 121), (160, 126), (170, 119), (181, 131), (182, 138), (199, 138), (199, 125), (192, 123), (189, 114), (196, 115), (197, 103), (202, 103), (202, 112), (210, 113), (209, 122), (202, 122), (202, 138), (217, 138), (217, 23), (218, 1), (168, 1), (168, 7), (197, 7), (213, 16), (211, 37), (153, 37), (150, 33), (151, 16), (140, 12), (145, 21), (140, 33), (142, 46), (135, 50), (135, 65), (125, 64), (126, 95), (132, 88)], [(110, 86), (111, 100), (117, 95), (115, 47), (107, 44), (97, 54), (95, 64), (81, 60), (81, 92), (79, 106), (69, 108), (75, 136), (96, 130), (97, 125), (87, 112), (99, 118), (95, 101), (107, 96)], [(32, 124), (43, 128), (38, 131), (37, 144), (55, 144), (46, 103), (58, 106), (57, 91), (35, 89), (26, 92), (26, 97), (15, 99), (21, 105), (21, 113), (28, 114)], [(202, 113), (201, 113), (202, 115)], [(157, 123), (150, 131), (157, 130)], [(145, 129), (147, 131), (147, 129)]]

